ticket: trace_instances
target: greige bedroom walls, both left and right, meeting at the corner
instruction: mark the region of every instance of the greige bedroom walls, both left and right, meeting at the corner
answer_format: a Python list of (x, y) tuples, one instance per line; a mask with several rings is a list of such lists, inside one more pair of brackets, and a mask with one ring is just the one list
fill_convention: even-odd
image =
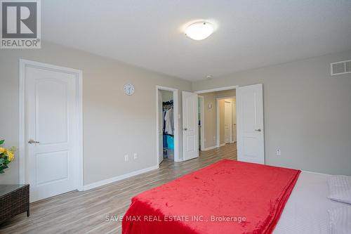
[[(85, 185), (156, 164), (156, 85), (179, 89), (181, 115), (182, 90), (263, 83), (267, 164), (351, 175), (351, 74), (329, 75), (329, 63), (351, 59), (351, 51), (191, 86), (182, 79), (45, 42), (41, 49), (0, 50), (0, 138), (6, 138), (6, 146), (18, 146), (20, 58), (83, 70)], [(135, 85), (133, 96), (123, 93), (127, 82)], [(212, 110), (216, 119), (216, 102)], [(181, 119), (179, 126), (181, 133)], [(124, 162), (124, 155), (133, 152), (138, 159)], [(0, 175), (0, 183), (18, 183), (18, 159)]]

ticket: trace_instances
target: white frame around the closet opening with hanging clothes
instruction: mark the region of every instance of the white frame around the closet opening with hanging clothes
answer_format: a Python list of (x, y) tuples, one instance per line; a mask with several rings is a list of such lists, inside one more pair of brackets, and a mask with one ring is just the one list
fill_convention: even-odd
[(174, 122), (174, 162), (180, 162), (179, 157), (179, 121), (178, 121), (178, 89), (166, 86), (156, 86), (156, 157), (159, 167), (159, 90), (173, 92), (173, 122)]

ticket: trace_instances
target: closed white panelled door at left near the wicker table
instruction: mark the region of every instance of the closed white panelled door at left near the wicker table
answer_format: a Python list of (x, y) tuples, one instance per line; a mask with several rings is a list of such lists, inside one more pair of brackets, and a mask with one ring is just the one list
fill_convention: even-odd
[(26, 67), (26, 171), (30, 201), (78, 188), (74, 74)]

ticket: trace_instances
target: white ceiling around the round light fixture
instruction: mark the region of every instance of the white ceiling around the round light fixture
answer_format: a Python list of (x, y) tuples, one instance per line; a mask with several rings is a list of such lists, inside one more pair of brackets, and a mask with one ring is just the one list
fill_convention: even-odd
[[(42, 39), (196, 81), (351, 48), (350, 0), (44, 0)], [(204, 41), (181, 28), (213, 22)]]

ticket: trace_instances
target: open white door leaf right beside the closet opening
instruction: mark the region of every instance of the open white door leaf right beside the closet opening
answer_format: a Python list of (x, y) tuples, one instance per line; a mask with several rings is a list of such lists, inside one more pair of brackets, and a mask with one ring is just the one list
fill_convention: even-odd
[(197, 93), (183, 91), (183, 157), (199, 157)]

